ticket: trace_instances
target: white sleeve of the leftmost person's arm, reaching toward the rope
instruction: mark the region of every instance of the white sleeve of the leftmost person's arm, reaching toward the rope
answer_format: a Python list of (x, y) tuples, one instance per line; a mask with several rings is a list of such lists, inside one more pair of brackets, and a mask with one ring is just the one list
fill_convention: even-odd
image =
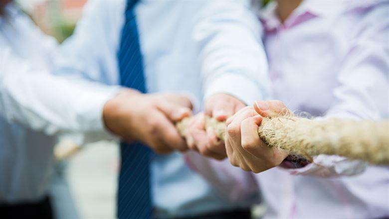
[(102, 110), (118, 86), (54, 76), (5, 45), (0, 57), (1, 117), (48, 135), (82, 133), (87, 141), (113, 137), (105, 130)]

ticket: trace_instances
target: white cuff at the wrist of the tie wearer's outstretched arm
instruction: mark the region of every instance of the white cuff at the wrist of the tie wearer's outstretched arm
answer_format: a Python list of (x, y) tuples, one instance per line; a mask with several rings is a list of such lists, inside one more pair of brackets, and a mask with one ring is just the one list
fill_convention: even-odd
[(212, 81), (206, 83), (204, 88), (204, 100), (214, 94), (229, 94), (246, 105), (252, 105), (255, 101), (262, 100), (262, 94), (259, 86), (253, 80), (249, 80), (244, 75), (223, 74)]

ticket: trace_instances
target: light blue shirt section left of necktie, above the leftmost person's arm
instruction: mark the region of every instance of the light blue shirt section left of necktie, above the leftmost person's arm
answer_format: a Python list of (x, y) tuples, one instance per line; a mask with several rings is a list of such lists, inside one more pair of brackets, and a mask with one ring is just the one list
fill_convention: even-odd
[(74, 33), (59, 47), (54, 74), (119, 84), (117, 50), (126, 2), (87, 1)]

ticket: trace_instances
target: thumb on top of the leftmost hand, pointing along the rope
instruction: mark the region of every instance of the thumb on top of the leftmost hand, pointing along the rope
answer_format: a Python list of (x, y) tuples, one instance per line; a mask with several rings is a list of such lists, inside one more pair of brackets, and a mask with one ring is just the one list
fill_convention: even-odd
[(192, 115), (191, 109), (177, 106), (167, 101), (159, 101), (157, 104), (157, 108), (173, 122), (180, 121), (184, 117)]

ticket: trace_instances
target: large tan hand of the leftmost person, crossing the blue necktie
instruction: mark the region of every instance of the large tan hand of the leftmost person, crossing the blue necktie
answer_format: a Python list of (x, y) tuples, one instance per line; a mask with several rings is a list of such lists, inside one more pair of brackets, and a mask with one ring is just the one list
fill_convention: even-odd
[(106, 127), (126, 141), (140, 141), (157, 153), (169, 153), (188, 146), (174, 122), (191, 115), (188, 98), (173, 94), (141, 94), (125, 89), (103, 109)]

